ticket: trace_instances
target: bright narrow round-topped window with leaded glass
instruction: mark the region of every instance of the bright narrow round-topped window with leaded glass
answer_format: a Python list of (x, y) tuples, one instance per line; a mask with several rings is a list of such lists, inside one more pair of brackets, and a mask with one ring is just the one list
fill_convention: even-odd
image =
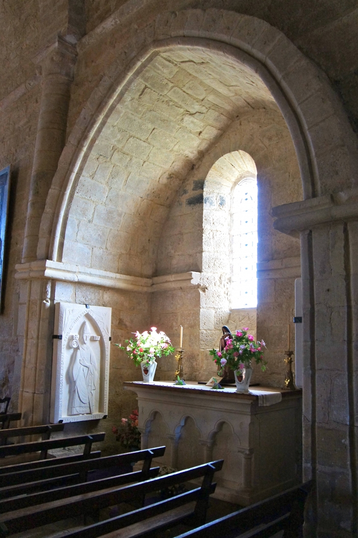
[(231, 308), (257, 306), (257, 183), (244, 179), (231, 201)]

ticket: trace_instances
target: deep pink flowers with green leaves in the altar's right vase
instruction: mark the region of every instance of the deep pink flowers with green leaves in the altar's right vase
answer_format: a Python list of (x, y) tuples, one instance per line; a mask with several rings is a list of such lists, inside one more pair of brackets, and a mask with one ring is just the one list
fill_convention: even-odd
[(215, 364), (220, 364), (221, 369), (227, 364), (231, 370), (242, 372), (244, 368), (250, 368), (251, 361), (255, 360), (256, 364), (261, 364), (262, 371), (266, 370), (267, 362), (263, 360), (265, 342), (254, 342), (255, 338), (248, 334), (248, 330), (248, 327), (244, 327), (235, 331), (231, 337), (227, 336), (226, 346), (222, 351), (209, 351)]

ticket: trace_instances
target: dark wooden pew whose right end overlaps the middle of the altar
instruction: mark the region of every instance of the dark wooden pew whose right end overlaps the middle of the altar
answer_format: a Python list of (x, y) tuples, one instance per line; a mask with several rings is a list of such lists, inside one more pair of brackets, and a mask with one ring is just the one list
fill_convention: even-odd
[[(184, 521), (188, 518), (192, 518), (193, 521), (196, 521), (196, 524), (200, 524), (205, 521), (208, 496), (215, 489), (215, 485), (212, 483), (214, 473), (221, 470), (222, 464), (223, 460), (218, 460), (199, 465), (192, 469), (174, 472), (171, 475), (152, 478), (145, 482), (130, 484), (111, 490), (108, 490), (109, 479), (102, 480), (102, 486), (106, 488), (102, 491), (92, 491), (93, 483), (82, 483), (68, 486), (64, 489), (52, 490), (51, 498), (54, 500), (51, 502), (43, 502), (43, 504), (40, 505), (20, 508), (15, 511), (0, 514), (0, 536), (23, 532), (24, 530), (43, 526), (47, 523), (67, 519), (69, 515), (71, 515), (71, 517), (85, 514), (93, 515), (102, 508), (113, 506), (121, 502), (137, 501), (138, 497), (144, 500), (147, 493), (152, 493), (169, 486), (203, 477), (203, 482), (200, 488), (193, 490), (194, 492), (190, 491), (182, 495), (177, 495), (175, 500), (173, 500), (172, 508), (177, 509), (178, 511), (178, 508), (175, 508), (176, 502), (178, 503), (176, 506), (181, 507), (183, 504), (185, 506), (179, 511), (179, 514), (178, 512), (174, 514), (174, 519), (172, 518), (170, 521), (166, 520), (166, 525), (172, 525), (172, 521)], [(64, 498), (64, 494), (67, 495), (69, 490), (71, 490), (71, 497)], [(72, 493), (74, 493), (74, 495)], [(41, 497), (41, 499), (44, 500), (43, 497)], [(188, 506), (188, 502), (194, 500), (196, 501), (195, 506)], [(157, 508), (155, 508), (155, 506), (157, 506)], [(144, 507), (141, 509), (141, 512), (139, 512), (140, 515), (134, 515), (134, 518), (137, 518), (137, 521), (142, 521), (151, 516), (155, 510), (157, 510), (157, 513), (163, 513), (168, 506), (170, 505), (165, 504), (165, 502), (159, 502), (155, 505)], [(136, 513), (137, 512), (138, 511), (136, 511)], [(115, 519), (116, 523), (114, 528), (116, 529), (129, 525), (128, 519)], [(106, 522), (97, 523), (97, 525), (103, 525), (103, 523)], [(107, 520), (107, 523), (108, 525), (113, 525), (113, 520)], [(104, 532), (109, 532), (108, 527), (105, 526), (100, 528), (96, 527), (96, 530), (93, 532), (96, 533), (98, 530), (100, 534), (92, 535), (100, 536)], [(89, 532), (88, 528), (87, 532)], [(87, 537), (89, 535), (90, 534), (86, 534)], [(70, 534), (67, 534), (67, 536), (70, 536)]]

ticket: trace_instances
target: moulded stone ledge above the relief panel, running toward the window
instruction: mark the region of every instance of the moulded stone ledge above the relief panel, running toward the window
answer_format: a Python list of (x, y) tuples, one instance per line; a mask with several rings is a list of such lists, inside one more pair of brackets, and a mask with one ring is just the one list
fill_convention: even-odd
[(141, 278), (51, 260), (31, 261), (26, 264), (18, 264), (15, 268), (15, 278), (20, 280), (62, 280), (141, 293), (161, 292), (183, 287), (199, 288), (201, 276), (201, 273), (188, 271), (187, 273), (167, 274), (162, 277)]

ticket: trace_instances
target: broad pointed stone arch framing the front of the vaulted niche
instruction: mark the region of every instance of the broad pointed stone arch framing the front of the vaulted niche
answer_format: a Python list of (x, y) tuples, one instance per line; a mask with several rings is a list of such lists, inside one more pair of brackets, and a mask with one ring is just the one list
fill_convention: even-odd
[[(130, 53), (126, 51), (108, 67), (68, 138), (41, 221), (39, 259), (58, 260), (71, 191), (95, 137), (131, 77), (158, 51), (172, 47), (199, 47), (234, 58), (261, 77), (291, 131), (305, 198), (352, 186), (358, 166), (348, 120), (326, 76), (284, 34), (263, 20), (224, 10), (161, 13), (154, 31), (138, 32), (128, 44)], [(320, 106), (322, 100), (325, 107)], [(335, 152), (329, 152), (329, 140), (334, 141)]]

